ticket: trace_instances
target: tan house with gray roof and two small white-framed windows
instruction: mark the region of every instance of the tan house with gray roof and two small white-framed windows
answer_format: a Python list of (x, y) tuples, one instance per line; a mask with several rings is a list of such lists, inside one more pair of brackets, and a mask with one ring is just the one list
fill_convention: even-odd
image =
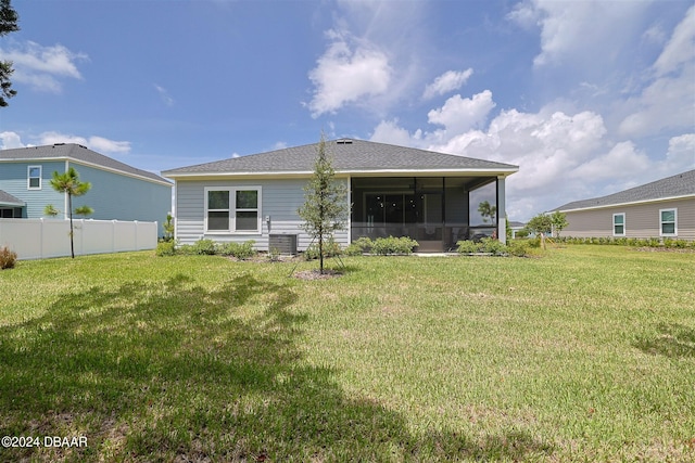
[(557, 208), (577, 237), (695, 240), (695, 170)]

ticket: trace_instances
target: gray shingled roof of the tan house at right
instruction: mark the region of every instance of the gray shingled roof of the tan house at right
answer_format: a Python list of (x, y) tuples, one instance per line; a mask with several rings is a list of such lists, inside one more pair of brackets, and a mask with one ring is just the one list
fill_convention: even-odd
[(667, 177), (652, 183), (631, 188), (607, 196), (567, 203), (555, 210), (587, 209), (618, 204), (640, 203), (667, 197), (695, 196), (695, 170)]

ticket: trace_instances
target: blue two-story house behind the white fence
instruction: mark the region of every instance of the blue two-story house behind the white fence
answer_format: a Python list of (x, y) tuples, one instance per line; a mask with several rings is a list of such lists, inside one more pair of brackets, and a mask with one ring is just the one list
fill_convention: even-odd
[(41, 218), (47, 205), (67, 217), (67, 196), (51, 187), (54, 171), (74, 167), (91, 190), (73, 198), (73, 208), (87, 205), (103, 220), (162, 222), (172, 209), (172, 183), (74, 143), (0, 150), (0, 217)]

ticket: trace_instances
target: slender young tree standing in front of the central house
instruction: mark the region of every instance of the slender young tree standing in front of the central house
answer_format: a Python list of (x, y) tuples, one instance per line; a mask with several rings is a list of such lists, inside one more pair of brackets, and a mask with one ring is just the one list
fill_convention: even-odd
[(298, 214), (304, 220), (302, 229), (318, 240), (320, 273), (324, 273), (324, 244), (334, 231), (344, 230), (348, 221), (348, 190), (333, 180), (336, 170), (326, 153), (326, 140), (321, 133), (314, 163), (314, 175), (304, 187), (304, 204)]

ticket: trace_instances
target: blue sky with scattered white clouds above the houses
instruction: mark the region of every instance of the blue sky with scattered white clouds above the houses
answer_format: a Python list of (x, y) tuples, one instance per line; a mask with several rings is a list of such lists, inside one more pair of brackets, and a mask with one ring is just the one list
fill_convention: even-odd
[(510, 220), (695, 168), (693, 1), (13, 1), (0, 149), (162, 170), (351, 137), (516, 164)]

